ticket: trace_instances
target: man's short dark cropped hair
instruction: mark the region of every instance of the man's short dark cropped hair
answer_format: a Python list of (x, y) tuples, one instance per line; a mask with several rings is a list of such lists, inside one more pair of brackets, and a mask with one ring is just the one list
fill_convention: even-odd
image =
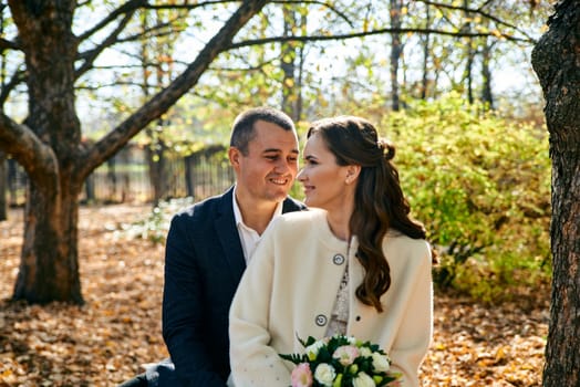
[(229, 146), (238, 148), (246, 156), (248, 154), (248, 144), (256, 135), (253, 124), (257, 121), (265, 121), (278, 125), (284, 130), (296, 132), (292, 118), (286, 113), (268, 106), (253, 107), (240, 113), (234, 121)]

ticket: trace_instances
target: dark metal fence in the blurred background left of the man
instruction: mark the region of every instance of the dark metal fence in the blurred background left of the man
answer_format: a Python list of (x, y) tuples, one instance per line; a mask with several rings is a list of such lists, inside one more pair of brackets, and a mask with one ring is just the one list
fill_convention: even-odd
[[(164, 198), (194, 197), (201, 200), (230, 187), (235, 175), (224, 150), (222, 147), (211, 147), (188, 157), (166, 160)], [(8, 205), (22, 206), (25, 202), (27, 174), (14, 160), (6, 163)], [(128, 147), (86, 179), (80, 200), (97, 203), (151, 202), (154, 196), (144, 149)]]

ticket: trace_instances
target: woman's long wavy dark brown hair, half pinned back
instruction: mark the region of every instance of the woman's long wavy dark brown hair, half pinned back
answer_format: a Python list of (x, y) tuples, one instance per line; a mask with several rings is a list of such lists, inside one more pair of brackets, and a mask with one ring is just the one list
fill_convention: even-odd
[(410, 218), (411, 207), (392, 163), (395, 147), (380, 139), (370, 122), (354, 116), (318, 121), (307, 137), (313, 134), (322, 136), (338, 165), (361, 166), (350, 231), (359, 239), (356, 258), (365, 274), (355, 294), (382, 312), (381, 295), (391, 286), (391, 268), (382, 249), (386, 232), (395, 229), (413, 239), (425, 239), (423, 224)]

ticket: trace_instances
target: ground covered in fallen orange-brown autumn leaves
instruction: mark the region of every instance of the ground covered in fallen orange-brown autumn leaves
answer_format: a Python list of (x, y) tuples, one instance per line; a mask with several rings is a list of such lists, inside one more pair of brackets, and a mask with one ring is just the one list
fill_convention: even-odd
[[(116, 386), (167, 356), (160, 335), (163, 245), (120, 233), (147, 206), (87, 207), (80, 215), (85, 305), (11, 303), (22, 209), (0, 222), (0, 386)], [(423, 386), (540, 386), (548, 292), (496, 306), (435, 293)]]

